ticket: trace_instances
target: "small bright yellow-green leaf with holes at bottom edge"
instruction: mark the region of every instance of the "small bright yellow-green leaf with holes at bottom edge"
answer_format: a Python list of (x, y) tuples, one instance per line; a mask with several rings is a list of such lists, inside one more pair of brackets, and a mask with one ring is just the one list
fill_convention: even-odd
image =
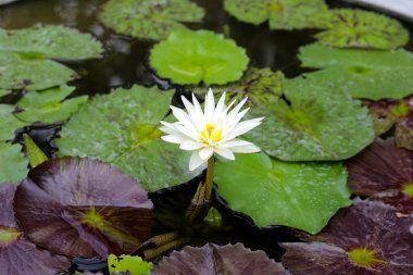
[(143, 261), (140, 257), (110, 254), (108, 258), (109, 272), (130, 272), (130, 275), (150, 275), (152, 263)]

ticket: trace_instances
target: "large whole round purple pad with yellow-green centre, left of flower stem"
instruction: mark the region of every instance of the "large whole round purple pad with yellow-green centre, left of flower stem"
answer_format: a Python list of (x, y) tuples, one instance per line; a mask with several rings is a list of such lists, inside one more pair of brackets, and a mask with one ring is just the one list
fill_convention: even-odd
[(152, 225), (152, 202), (135, 179), (80, 158), (32, 170), (16, 191), (14, 211), (33, 242), (65, 255), (130, 253)]

